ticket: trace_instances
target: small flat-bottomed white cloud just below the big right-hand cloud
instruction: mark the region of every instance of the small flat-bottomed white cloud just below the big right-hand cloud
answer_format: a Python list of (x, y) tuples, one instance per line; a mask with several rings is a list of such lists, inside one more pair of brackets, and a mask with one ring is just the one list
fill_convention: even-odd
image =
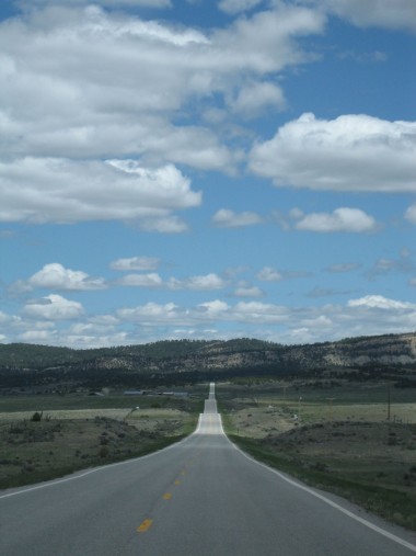
[(377, 223), (359, 208), (336, 208), (333, 213), (312, 213), (303, 216), (296, 225), (298, 229), (310, 231), (348, 231), (362, 234), (374, 231)]

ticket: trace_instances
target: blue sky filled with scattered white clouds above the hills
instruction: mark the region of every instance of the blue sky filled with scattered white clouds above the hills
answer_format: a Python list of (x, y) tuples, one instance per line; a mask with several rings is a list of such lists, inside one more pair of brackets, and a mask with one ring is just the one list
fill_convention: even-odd
[(416, 331), (415, 0), (2, 0), (0, 342)]

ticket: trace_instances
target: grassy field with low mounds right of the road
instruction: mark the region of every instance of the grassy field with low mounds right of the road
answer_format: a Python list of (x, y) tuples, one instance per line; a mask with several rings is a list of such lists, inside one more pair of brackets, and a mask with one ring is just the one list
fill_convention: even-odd
[(228, 384), (216, 392), (226, 430), (243, 450), (416, 530), (415, 390), (391, 392), (390, 409), (380, 384), (312, 392)]

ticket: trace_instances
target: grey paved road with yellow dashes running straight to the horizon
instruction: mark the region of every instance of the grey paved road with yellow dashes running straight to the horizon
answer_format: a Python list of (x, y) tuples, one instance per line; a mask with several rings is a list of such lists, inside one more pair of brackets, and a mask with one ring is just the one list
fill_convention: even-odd
[(222, 431), (215, 385), (196, 432), (155, 454), (0, 491), (2, 556), (411, 556), (416, 535), (258, 464)]

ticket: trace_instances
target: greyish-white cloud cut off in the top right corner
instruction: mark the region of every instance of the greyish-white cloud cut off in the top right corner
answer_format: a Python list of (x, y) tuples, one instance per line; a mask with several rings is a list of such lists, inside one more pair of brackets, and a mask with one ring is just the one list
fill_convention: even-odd
[[(381, 26), (416, 31), (414, 0), (313, 0), (321, 9), (349, 20), (360, 27)], [(311, 3), (308, 0), (308, 3)]]

